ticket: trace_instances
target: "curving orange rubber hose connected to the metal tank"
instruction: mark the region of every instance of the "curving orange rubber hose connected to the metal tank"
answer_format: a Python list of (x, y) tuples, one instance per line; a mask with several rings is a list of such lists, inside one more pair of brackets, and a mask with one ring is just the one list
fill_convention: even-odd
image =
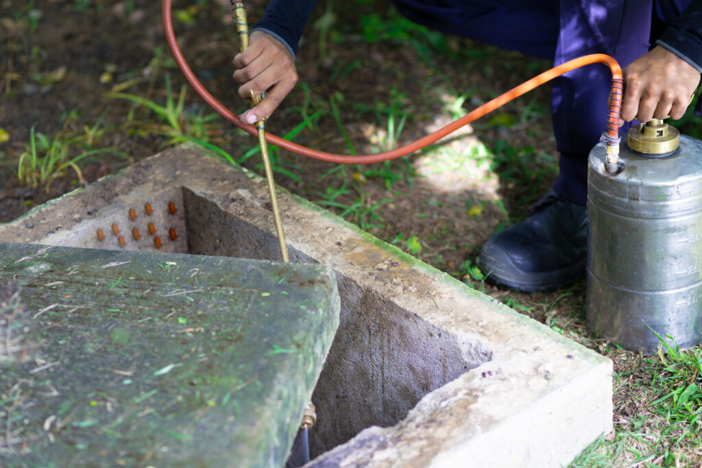
[[(164, 32), (166, 33), (166, 41), (168, 41), (168, 47), (171, 48), (171, 53), (173, 53), (173, 57), (176, 59), (178, 68), (180, 68), (180, 71), (183, 72), (183, 75), (185, 75), (185, 79), (187, 79), (188, 83), (190, 83), (190, 86), (192, 86), (194, 90), (200, 95), (200, 97), (218, 114), (220, 114), (225, 119), (233, 123), (235, 126), (250, 133), (251, 135), (258, 135), (254, 126), (243, 123), (241, 120), (239, 120), (239, 117), (234, 115), (232, 112), (230, 112), (229, 109), (227, 109), (220, 102), (218, 102), (218, 100), (216, 100), (213, 97), (213, 95), (211, 95), (204, 88), (204, 86), (202, 86), (202, 83), (200, 83), (197, 77), (193, 74), (190, 67), (187, 65), (187, 62), (183, 57), (183, 53), (180, 51), (180, 48), (178, 48), (176, 34), (175, 32), (173, 32), (173, 20), (171, 18), (172, 3), (172, 0), (163, 0), (163, 2), (161, 3), (161, 17), (164, 25)], [(287, 149), (288, 151), (300, 154), (302, 156), (307, 156), (322, 161), (329, 161), (331, 163), (369, 164), (378, 163), (380, 161), (388, 161), (389, 159), (396, 159), (401, 156), (406, 156), (407, 154), (416, 152), (419, 149), (422, 149), (423, 147), (431, 145), (437, 140), (440, 140), (446, 135), (449, 135), (449, 133), (458, 130), (458, 128), (468, 125), (468, 123), (471, 123), (472, 121), (479, 119), (485, 114), (494, 111), (498, 107), (501, 107), (507, 102), (510, 102), (512, 99), (517, 98), (524, 93), (528, 93), (537, 86), (541, 86), (546, 81), (550, 81), (556, 78), (557, 76), (570, 72), (573, 69), (584, 67), (585, 65), (591, 65), (593, 63), (603, 63), (604, 65), (609, 66), (609, 69), (611, 69), (613, 81), (613, 91), (611, 94), (613, 96), (618, 97), (618, 100), (616, 100), (616, 98), (613, 98), (609, 102), (609, 116), (607, 118), (607, 144), (614, 145), (614, 142), (616, 142), (618, 138), (618, 122), (619, 114), (621, 111), (621, 83), (623, 79), (621, 74), (621, 67), (619, 67), (619, 64), (616, 62), (616, 60), (614, 60), (614, 58), (610, 57), (609, 55), (605, 55), (602, 53), (585, 55), (581, 58), (576, 58), (574, 60), (570, 60), (569, 62), (565, 62), (561, 65), (558, 65), (557, 67), (543, 72), (542, 74), (535, 76), (529, 81), (525, 81), (519, 86), (510, 89), (510, 91), (508, 91), (507, 93), (504, 93), (503, 95), (500, 95), (497, 98), (486, 102), (484, 105), (478, 107), (472, 112), (465, 114), (465, 116), (461, 117), (461, 119), (457, 119), (456, 121), (449, 123), (449, 125), (439, 128), (439, 130), (435, 131), (434, 133), (420, 138), (419, 140), (416, 140), (415, 142), (412, 142), (409, 145), (392, 149), (391, 151), (386, 151), (378, 154), (347, 156), (344, 154), (333, 154), (317, 151), (316, 149), (311, 149), (302, 145), (297, 145), (296, 143), (284, 140), (284, 138), (280, 138), (270, 133), (266, 133), (265, 136), (267, 142), (269, 142), (272, 145), (282, 147), (284, 149)]]

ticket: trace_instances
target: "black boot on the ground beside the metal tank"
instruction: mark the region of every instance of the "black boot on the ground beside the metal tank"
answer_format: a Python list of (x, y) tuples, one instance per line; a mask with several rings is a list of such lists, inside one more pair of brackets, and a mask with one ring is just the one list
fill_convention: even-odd
[(478, 266), (487, 280), (526, 292), (567, 286), (585, 270), (585, 206), (549, 192), (529, 207), (522, 222), (492, 236)]

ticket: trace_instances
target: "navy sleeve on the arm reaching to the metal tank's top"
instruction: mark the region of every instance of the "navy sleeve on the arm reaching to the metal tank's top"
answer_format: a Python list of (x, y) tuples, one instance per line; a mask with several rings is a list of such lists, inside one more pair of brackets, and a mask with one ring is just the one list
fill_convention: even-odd
[(692, 0), (656, 43), (702, 73), (702, 0)]

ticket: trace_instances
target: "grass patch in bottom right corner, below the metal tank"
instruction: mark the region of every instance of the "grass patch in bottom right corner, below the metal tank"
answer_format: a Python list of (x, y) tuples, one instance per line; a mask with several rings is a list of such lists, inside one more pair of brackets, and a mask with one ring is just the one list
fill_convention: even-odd
[(593, 443), (571, 467), (698, 467), (701, 371), (701, 349), (680, 351), (662, 339), (657, 356), (635, 356), (615, 375), (615, 389), (627, 397), (616, 396), (615, 406), (631, 406), (633, 416), (616, 422), (614, 434)]

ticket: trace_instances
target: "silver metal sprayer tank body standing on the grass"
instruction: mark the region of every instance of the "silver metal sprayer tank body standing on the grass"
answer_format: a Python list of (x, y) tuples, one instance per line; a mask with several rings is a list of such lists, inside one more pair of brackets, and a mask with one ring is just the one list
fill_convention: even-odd
[[(622, 145), (623, 170), (604, 170), (603, 143), (588, 168), (590, 328), (628, 349), (656, 352), (702, 341), (702, 142), (684, 135), (668, 157)], [(649, 329), (650, 327), (650, 329)]]

